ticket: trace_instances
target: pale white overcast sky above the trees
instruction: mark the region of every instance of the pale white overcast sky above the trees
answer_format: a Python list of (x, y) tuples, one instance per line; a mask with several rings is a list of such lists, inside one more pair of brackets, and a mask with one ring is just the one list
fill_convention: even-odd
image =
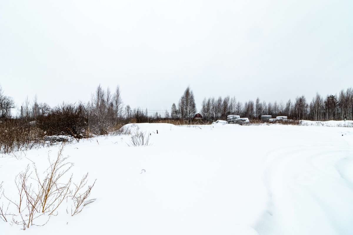
[(353, 1), (0, 1), (0, 84), (21, 105), (287, 101), (353, 86)]

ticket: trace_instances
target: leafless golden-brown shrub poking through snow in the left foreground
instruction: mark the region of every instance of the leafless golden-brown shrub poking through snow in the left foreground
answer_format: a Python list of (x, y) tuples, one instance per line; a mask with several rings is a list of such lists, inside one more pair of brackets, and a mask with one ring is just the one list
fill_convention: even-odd
[[(64, 146), (63, 146), (64, 147)], [(72, 190), (72, 174), (68, 179), (64, 175), (72, 168), (73, 163), (67, 162), (68, 157), (62, 155), (63, 147), (59, 150), (57, 157), (51, 160), (48, 156), (49, 167), (44, 172), (44, 177), (38, 173), (33, 163), (35, 177), (31, 177), (31, 167), (28, 165), (25, 171), (16, 176), (15, 183), (18, 191), (18, 200), (4, 197), (16, 208), (16, 213), (7, 213), (8, 207), (4, 210), (3, 204), (0, 207), (0, 218), (7, 222), (6, 216), (12, 215), (15, 224), (22, 225), (23, 230), (32, 225), (42, 226), (46, 224), (52, 215), (58, 214), (58, 208), (65, 200), (72, 200), (72, 215), (82, 211), (85, 205), (94, 202), (95, 199), (88, 199), (93, 185), (87, 190), (82, 190), (87, 183), (88, 173), (83, 177), (81, 183), (74, 184)], [(0, 187), (0, 191), (2, 184)], [(82, 192), (83, 191), (83, 192)], [(1, 196), (0, 196), (1, 198)], [(43, 219), (38, 220), (38, 217)]]

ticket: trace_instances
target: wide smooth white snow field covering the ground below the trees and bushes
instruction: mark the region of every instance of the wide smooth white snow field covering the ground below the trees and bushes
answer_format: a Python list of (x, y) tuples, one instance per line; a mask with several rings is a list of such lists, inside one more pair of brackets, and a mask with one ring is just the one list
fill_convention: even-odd
[[(0, 221), (0, 234), (353, 234), (353, 129), (138, 126), (150, 146), (102, 136), (64, 148), (74, 180), (97, 179), (81, 213), (64, 202), (43, 227)], [(0, 157), (6, 196), (16, 199), (20, 171), (33, 161), (43, 172), (58, 150)]]

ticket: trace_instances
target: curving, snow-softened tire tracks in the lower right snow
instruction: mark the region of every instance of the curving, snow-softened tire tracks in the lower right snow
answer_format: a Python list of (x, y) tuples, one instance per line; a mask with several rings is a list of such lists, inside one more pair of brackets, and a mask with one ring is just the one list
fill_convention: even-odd
[(337, 167), (337, 162), (352, 159), (352, 153), (351, 145), (315, 143), (265, 154), (269, 203), (254, 226), (258, 233), (352, 234), (353, 213), (346, 208), (353, 205), (353, 176), (348, 179), (342, 164)]

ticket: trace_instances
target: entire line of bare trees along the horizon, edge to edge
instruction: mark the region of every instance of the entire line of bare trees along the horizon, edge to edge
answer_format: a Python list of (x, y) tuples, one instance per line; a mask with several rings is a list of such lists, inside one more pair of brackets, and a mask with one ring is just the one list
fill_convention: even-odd
[[(66, 104), (66, 108), (67, 108)], [(110, 125), (118, 122), (153, 122), (161, 119), (183, 119), (191, 121), (197, 112), (201, 113), (205, 122), (217, 119), (226, 120), (228, 115), (240, 115), (249, 119), (260, 119), (262, 115), (287, 116), (294, 120), (343, 120), (353, 119), (353, 88), (341, 90), (337, 95), (322, 95), (316, 93), (310, 102), (304, 95), (298, 96), (295, 100), (289, 99), (277, 102), (265, 102), (257, 98), (255, 101), (249, 100), (244, 103), (238, 101), (235, 96), (229, 95), (222, 98), (204, 98), (201, 109), (198, 111), (195, 103), (195, 96), (190, 86), (181, 95), (177, 105), (173, 103), (171, 110), (165, 113), (151, 113), (149, 110), (140, 107), (131, 108), (125, 105), (121, 97), (121, 89), (118, 86), (111, 91), (108, 87), (103, 89), (98, 85), (95, 92), (91, 94), (87, 103), (78, 102), (70, 104), (74, 109), (80, 110), (87, 123), (92, 129), (106, 129)], [(10, 118), (11, 109), (15, 107), (11, 97), (4, 95), (0, 86), (0, 119)], [(36, 120), (44, 117), (52, 117), (62, 112), (65, 104), (50, 107), (47, 103), (39, 103), (37, 96), (32, 101), (25, 99), (21, 110), (18, 110), (16, 118), (25, 120)], [(60, 111), (61, 110), (61, 111)]]

